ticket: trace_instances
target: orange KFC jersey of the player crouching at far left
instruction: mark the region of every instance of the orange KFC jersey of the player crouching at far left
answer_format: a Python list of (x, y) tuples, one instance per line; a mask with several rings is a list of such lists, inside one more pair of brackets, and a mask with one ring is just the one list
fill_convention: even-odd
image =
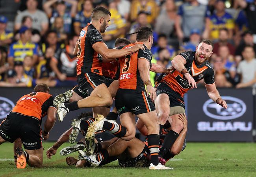
[(54, 107), (53, 96), (45, 92), (32, 92), (24, 95), (17, 101), (11, 112), (41, 120), (49, 107)]

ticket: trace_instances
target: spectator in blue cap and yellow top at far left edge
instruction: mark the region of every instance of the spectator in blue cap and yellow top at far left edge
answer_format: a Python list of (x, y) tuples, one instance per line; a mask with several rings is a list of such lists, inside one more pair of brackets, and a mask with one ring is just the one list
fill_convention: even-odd
[(7, 18), (0, 16), (0, 46), (7, 48), (11, 44), (13, 33), (6, 30)]

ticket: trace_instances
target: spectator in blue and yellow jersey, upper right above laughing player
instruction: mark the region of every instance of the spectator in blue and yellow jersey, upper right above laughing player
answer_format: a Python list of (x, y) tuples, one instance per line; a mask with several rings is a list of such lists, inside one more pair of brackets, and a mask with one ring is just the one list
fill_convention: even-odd
[(215, 11), (210, 17), (210, 39), (217, 40), (221, 28), (228, 29), (228, 39), (232, 39), (235, 28), (233, 17), (225, 11), (224, 0), (217, 0)]

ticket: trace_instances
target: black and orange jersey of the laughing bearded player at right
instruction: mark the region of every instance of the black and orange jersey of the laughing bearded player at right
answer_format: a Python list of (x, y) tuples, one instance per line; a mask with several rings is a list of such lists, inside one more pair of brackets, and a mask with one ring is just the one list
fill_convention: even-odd
[[(205, 61), (202, 65), (197, 65), (195, 61), (195, 51), (182, 52), (180, 55), (187, 61), (184, 66), (196, 82), (204, 79), (206, 85), (215, 83), (214, 71), (208, 61)], [(188, 85), (188, 81), (175, 69), (169, 74), (165, 74), (160, 82), (167, 83), (172, 90), (179, 93), (182, 97), (191, 88), (191, 86)]]

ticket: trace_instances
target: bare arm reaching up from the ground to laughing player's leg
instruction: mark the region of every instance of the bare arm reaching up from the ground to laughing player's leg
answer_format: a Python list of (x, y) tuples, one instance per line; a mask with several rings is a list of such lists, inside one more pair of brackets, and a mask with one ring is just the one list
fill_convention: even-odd
[(187, 134), (187, 117), (186, 117), (186, 114), (185, 113), (184, 114), (180, 113), (178, 116), (179, 116), (179, 120), (182, 121), (184, 127), (183, 127), (182, 131), (180, 132), (178, 138), (175, 140), (173, 146), (170, 149), (170, 151), (173, 155), (178, 155), (181, 152), (182, 146), (183, 146), (186, 134)]

